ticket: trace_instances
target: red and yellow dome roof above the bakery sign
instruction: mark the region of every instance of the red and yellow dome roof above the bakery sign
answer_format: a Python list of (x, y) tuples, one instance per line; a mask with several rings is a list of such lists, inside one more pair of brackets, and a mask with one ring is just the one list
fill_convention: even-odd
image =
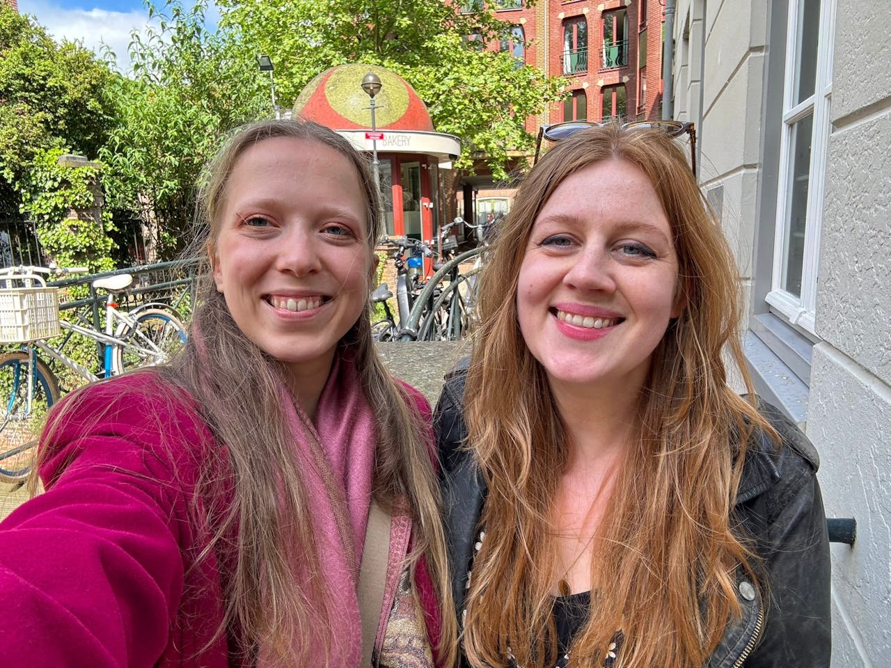
[(375, 127), (379, 130), (433, 132), (427, 107), (404, 78), (377, 65), (338, 65), (313, 78), (294, 102), (294, 115), (315, 120), (334, 130), (358, 130), (372, 125), (370, 98), (362, 90), (362, 77), (380, 77), (374, 98)]

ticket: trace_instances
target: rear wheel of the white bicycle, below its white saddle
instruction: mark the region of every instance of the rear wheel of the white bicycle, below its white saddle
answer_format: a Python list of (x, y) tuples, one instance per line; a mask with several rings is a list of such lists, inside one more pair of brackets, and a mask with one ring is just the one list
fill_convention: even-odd
[(132, 371), (141, 366), (166, 363), (185, 343), (185, 328), (176, 315), (159, 308), (147, 308), (136, 314), (133, 326), (125, 325), (118, 333), (123, 345), (111, 351), (111, 373)]

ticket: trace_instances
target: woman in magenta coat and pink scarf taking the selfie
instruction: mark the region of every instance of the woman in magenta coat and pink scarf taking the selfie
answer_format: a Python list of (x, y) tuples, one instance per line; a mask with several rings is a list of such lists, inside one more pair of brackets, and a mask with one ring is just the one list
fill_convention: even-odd
[(5, 662), (450, 664), (429, 405), (372, 344), (371, 170), (260, 122), (200, 201), (184, 350), (54, 408), (46, 491), (0, 525)]

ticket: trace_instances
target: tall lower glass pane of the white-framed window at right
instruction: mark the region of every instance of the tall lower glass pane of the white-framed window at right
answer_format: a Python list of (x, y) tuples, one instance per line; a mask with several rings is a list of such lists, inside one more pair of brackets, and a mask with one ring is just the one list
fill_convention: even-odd
[(786, 205), (786, 231), (783, 240), (782, 289), (801, 297), (801, 272), (805, 264), (807, 190), (811, 169), (813, 116), (792, 126), (789, 143), (789, 189)]

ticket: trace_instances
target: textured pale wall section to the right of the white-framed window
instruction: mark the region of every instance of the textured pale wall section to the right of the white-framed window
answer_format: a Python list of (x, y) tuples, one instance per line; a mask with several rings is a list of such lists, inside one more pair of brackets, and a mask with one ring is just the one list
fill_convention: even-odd
[[(825, 0), (824, 0), (825, 2)], [(891, 662), (891, 13), (838, 0), (807, 433), (832, 546), (832, 665)], [(869, 17), (869, 20), (864, 20)]]

